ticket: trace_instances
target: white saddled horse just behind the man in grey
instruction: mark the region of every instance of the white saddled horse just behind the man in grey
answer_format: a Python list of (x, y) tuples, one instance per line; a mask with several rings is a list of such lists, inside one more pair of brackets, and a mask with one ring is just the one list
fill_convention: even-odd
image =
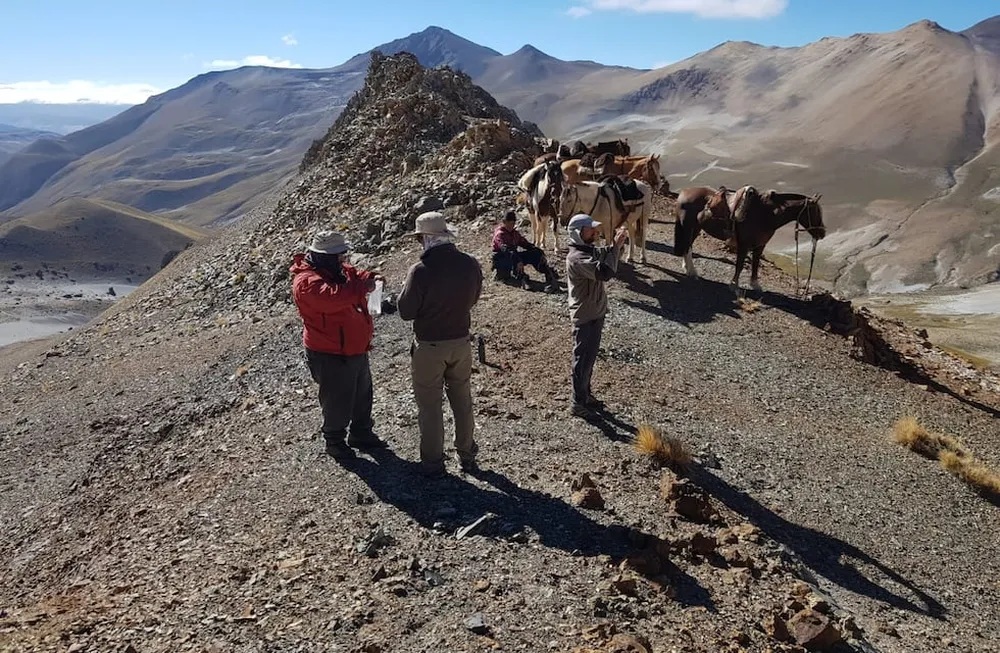
[(641, 200), (624, 202), (615, 188), (607, 182), (582, 181), (563, 186), (559, 200), (559, 220), (565, 226), (577, 213), (586, 213), (601, 223), (604, 241), (614, 241), (615, 231), (625, 225), (628, 230), (628, 254), (625, 262), (632, 262), (632, 254), (639, 248), (639, 260), (646, 262), (646, 234), (649, 233), (649, 215), (653, 211), (653, 188), (643, 181), (636, 181), (642, 193)]

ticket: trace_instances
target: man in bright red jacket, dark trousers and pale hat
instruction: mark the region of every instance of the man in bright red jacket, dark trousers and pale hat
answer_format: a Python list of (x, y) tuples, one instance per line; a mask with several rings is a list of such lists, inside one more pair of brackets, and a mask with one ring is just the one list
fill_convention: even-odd
[(289, 269), (292, 298), (302, 318), (306, 361), (319, 384), (326, 452), (334, 458), (354, 456), (351, 447), (388, 446), (372, 430), (368, 362), (375, 333), (368, 293), (383, 279), (350, 265), (349, 248), (343, 234), (321, 231), (305, 253), (294, 255)]

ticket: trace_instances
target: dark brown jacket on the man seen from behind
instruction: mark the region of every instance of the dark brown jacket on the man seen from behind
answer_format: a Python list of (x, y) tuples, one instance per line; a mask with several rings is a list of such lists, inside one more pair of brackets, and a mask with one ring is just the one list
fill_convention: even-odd
[(432, 247), (410, 268), (397, 308), (413, 320), (417, 340), (437, 342), (469, 337), (472, 307), (483, 290), (479, 261), (452, 243)]

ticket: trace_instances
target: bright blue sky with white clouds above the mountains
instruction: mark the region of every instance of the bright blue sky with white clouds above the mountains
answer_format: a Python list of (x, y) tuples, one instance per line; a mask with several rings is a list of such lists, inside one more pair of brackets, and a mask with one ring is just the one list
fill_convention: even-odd
[(244, 63), (324, 68), (428, 25), (507, 54), (651, 68), (726, 40), (802, 45), (929, 18), (962, 30), (997, 0), (3, 0), (0, 103), (141, 102)]

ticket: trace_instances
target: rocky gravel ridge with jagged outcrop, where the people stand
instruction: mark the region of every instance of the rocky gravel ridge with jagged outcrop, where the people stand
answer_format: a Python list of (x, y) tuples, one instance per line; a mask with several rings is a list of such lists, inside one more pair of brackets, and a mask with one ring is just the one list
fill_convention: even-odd
[(482, 469), (418, 474), (391, 312), (390, 448), (323, 453), (291, 255), (342, 227), (395, 292), (401, 235), (440, 209), (488, 269), (540, 137), (465, 75), (376, 53), (254, 215), (87, 328), (0, 350), (0, 650), (995, 651), (996, 497), (889, 434), (919, 420), (985, 474), (996, 379), (773, 266), (736, 298), (708, 238), (684, 278), (666, 198), (649, 263), (609, 285), (605, 421), (568, 416), (565, 297), (487, 282)]

